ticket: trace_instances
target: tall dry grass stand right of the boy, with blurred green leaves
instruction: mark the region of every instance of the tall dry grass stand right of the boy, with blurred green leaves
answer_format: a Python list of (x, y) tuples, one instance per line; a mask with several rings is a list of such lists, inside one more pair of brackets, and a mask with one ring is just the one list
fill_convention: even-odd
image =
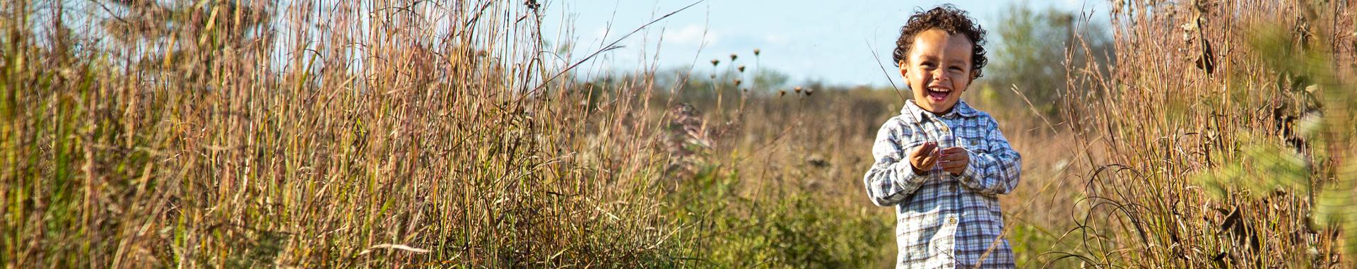
[(1069, 130), (1105, 155), (1082, 154), (1088, 209), (1050, 259), (1352, 266), (1353, 11), (1114, 3), (1113, 65), (1069, 67), (1068, 88), (1094, 88), (1067, 92)]

